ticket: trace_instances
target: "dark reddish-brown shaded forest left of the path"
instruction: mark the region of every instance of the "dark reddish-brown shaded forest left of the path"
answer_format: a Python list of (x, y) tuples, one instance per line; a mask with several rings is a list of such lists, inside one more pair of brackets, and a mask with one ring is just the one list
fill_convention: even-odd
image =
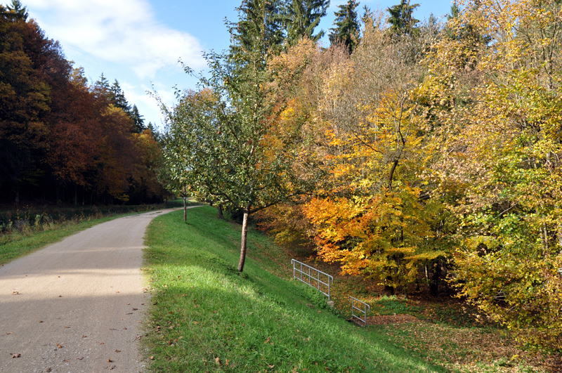
[(161, 157), (117, 80), (88, 83), (20, 1), (0, 5), (0, 204), (144, 204)]

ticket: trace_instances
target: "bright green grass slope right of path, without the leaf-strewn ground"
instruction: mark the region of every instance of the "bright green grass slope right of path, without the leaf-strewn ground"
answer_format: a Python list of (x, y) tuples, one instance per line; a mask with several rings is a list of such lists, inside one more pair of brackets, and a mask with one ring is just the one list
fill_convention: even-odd
[(238, 275), (240, 226), (210, 207), (152, 221), (145, 270), (152, 308), (143, 339), (153, 372), (445, 372), (403, 348), (380, 342), (320, 307), (289, 272), (284, 252), (249, 233)]

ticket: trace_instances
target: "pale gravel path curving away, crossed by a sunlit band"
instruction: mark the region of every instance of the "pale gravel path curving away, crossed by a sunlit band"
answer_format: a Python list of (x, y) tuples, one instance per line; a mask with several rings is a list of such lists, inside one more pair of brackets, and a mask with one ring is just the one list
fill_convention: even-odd
[(0, 266), (0, 372), (141, 372), (143, 236), (169, 211), (108, 221)]

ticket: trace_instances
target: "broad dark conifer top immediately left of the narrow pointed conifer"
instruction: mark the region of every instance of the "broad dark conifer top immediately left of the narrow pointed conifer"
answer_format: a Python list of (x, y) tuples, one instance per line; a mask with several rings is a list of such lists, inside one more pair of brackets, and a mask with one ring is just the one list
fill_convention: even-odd
[(328, 6), (329, 0), (289, 0), (283, 20), (289, 44), (296, 44), (303, 37), (315, 42), (323, 37), (324, 30), (316, 35), (313, 32)]

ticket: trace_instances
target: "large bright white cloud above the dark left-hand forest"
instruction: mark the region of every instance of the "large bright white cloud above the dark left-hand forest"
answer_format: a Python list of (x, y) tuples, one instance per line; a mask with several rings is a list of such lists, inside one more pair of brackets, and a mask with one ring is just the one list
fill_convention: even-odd
[(204, 67), (200, 42), (157, 22), (146, 0), (27, 0), (26, 6), (48, 37), (93, 58), (127, 65), (140, 79), (180, 69), (178, 58)]

